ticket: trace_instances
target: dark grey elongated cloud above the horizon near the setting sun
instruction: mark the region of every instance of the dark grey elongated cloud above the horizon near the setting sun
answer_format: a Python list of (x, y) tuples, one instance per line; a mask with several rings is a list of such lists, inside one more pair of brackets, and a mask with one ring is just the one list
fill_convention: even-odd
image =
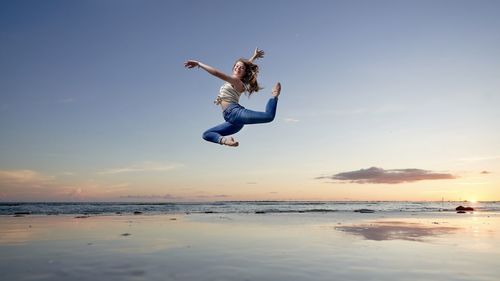
[(398, 184), (416, 182), (422, 180), (455, 179), (456, 176), (448, 173), (436, 173), (421, 169), (393, 169), (371, 167), (351, 172), (338, 173), (333, 176), (321, 176), (316, 179), (332, 179), (336, 181), (347, 181), (351, 183), (387, 183)]

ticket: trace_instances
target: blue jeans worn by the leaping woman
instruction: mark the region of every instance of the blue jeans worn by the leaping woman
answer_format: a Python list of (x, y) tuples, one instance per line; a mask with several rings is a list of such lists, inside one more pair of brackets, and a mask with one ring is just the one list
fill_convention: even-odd
[(223, 136), (239, 132), (244, 125), (269, 123), (276, 116), (277, 105), (278, 98), (271, 98), (267, 102), (266, 111), (258, 112), (248, 110), (237, 103), (232, 103), (222, 112), (226, 122), (206, 130), (203, 133), (203, 139), (220, 144)]

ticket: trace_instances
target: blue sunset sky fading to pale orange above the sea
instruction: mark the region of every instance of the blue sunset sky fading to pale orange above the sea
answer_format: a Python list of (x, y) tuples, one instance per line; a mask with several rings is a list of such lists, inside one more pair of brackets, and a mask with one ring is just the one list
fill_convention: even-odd
[[(500, 200), (500, 1), (0, 1), (0, 201)], [(258, 47), (272, 123), (222, 81)]]

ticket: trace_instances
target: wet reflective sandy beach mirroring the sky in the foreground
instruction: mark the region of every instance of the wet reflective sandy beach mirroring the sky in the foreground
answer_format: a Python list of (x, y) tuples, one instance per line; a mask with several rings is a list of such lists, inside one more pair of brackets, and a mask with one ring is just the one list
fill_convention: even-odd
[(2, 216), (4, 280), (498, 280), (496, 213)]

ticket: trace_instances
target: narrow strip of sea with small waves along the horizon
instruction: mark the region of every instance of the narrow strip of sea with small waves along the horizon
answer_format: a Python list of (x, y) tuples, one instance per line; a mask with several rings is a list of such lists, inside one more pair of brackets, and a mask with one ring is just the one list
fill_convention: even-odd
[(227, 201), (203, 203), (0, 203), (0, 215), (34, 214), (168, 214), (168, 213), (326, 213), (354, 212), (454, 212), (458, 206), (471, 206), (479, 212), (498, 212), (500, 202), (380, 202), (380, 201)]

